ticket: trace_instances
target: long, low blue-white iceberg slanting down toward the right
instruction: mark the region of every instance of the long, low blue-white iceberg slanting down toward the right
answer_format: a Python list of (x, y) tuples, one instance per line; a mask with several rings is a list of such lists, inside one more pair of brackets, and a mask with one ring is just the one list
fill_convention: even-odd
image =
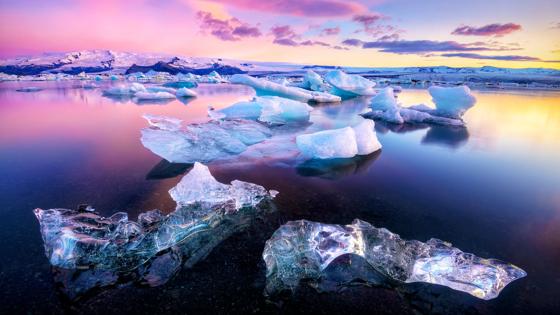
[(245, 84), (255, 89), (259, 96), (280, 96), (300, 102), (340, 102), (341, 98), (324, 92), (308, 91), (298, 87), (284, 86), (279, 83), (258, 79), (246, 74), (234, 74), (231, 83)]

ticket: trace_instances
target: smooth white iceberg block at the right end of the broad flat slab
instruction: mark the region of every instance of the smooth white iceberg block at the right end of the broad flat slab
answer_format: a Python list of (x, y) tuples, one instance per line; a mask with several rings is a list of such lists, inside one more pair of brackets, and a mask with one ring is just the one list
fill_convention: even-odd
[(351, 158), (381, 149), (372, 120), (362, 120), (355, 127), (324, 130), (296, 137), (304, 156), (316, 159)]

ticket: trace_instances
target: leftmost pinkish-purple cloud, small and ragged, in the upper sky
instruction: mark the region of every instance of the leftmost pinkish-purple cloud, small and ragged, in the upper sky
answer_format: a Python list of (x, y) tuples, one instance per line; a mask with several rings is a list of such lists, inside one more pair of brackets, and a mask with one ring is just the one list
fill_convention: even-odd
[(200, 20), (200, 29), (224, 41), (238, 41), (243, 37), (259, 37), (261, 31), (254, 26), (231, 18), (220, 20), (210, 12), (199, 11), (196, 14)]

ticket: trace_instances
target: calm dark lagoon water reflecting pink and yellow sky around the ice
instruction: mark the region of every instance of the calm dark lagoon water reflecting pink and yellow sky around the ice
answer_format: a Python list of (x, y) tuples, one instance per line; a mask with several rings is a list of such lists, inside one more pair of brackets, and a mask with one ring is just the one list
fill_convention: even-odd
[[(376, 125), (383, 150), (330, 165), (267, 161), (210, 164), (222, 182), (254, 182), (280, 194), (277, 209), (223, 240), (167, 284), (109, 288), (70, 302), (59, 293), (32, 210), (93, 205), (104, 215), (159, 208), (188, 167), (170, 165), (140, 143), (144, 113), (207, 120), (252, 97), (250, 88), (202, 85), (187, 103), (135, 104), (76, 82), (0, 83), (0, 313), (398, 313), (546, 314), (560, 309), (560, 93), (475, 91), (468, 128)], [(111, 84), (109, 82), (104, 84)], [(23, 86), (39, 92), (22, 93)], [(429, 102), (406, 89), (404, 104)], [(309, 130), (356, 119), (368, 99), (319, 105)], [(262, 295), (264, 242), (281, 224), (354, 218), (407, 239), (431, 237), (511, 262), (528, 276), (490, 301), (447, 288), (355, 286), (317, 293), (302, 285), (282, 305)]]

